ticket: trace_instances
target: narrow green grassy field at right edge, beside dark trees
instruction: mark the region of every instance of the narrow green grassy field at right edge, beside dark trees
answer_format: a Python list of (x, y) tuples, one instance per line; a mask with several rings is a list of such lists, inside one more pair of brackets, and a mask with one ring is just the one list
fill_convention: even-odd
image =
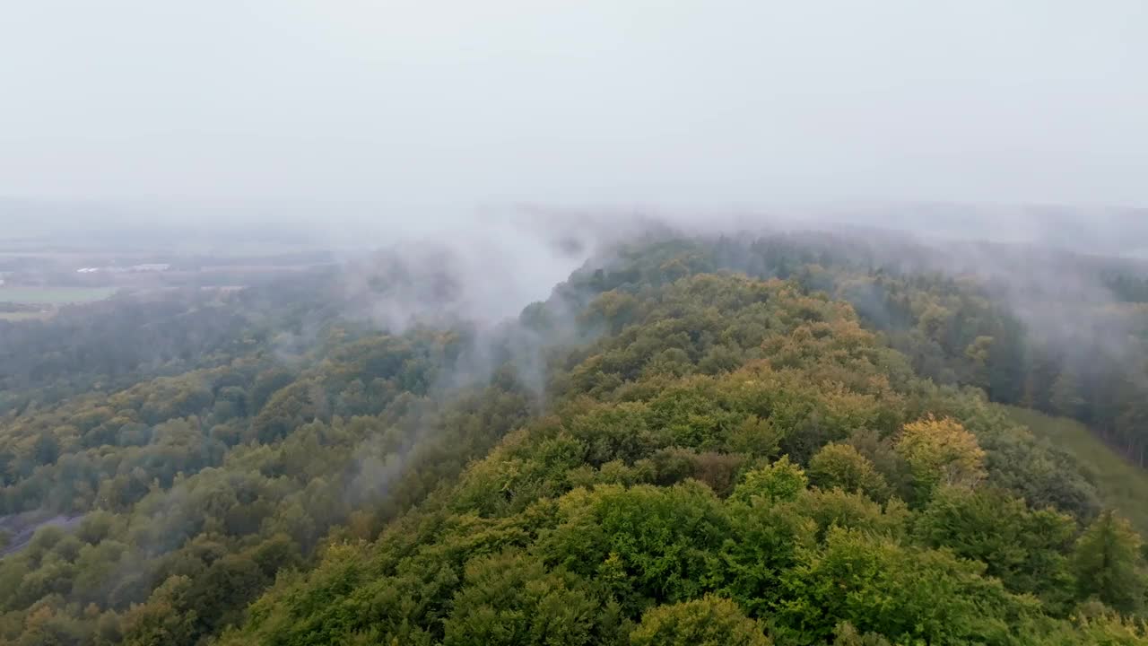
[(1120, 512), (1140, 533), (1148, 533), (1148, 471), (1109, 448), (1079, 422), (1027, 408), (1006, 408), (1017, 423), (1029, 426), (1037, 437), (1084, 462), (1093, 472), (1104, 505)]

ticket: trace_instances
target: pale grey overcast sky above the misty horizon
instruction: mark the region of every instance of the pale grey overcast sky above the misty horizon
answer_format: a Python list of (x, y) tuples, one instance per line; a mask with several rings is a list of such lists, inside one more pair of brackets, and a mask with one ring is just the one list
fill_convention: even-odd
[(0, 195), (1148, 205), (1148, 2), (7, 0)]

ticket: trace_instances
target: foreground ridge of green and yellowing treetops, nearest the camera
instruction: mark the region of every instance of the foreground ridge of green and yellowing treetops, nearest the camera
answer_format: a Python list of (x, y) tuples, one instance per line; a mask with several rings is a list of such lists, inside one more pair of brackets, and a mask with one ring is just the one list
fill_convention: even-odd
[(1072, 460), (850, 306), (697, 275), (583, 317), (607, 333), (546, 414), (220, 643), (1143, 643), (1112, 614), (1142, 609), (1139, 539)]

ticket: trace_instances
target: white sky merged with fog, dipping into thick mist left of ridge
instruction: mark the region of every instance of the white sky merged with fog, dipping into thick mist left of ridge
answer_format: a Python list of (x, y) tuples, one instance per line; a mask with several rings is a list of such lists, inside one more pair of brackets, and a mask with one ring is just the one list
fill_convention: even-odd
[(1139, 0), (13, 3), (0, 224), (336, 249), (387, 329), (512, 318), (651, 223), (1145, 256), (1145, 61)]

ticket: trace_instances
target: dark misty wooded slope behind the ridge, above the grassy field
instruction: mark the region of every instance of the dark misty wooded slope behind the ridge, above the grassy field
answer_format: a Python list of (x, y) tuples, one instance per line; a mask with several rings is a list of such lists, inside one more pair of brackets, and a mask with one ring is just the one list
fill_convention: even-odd
[(1145, 466), (1143, 261), (988, 243), (926, 245), (864, 230), (683, 239), (633, 260), (615, 282), (656, 269), (731, 270), (823, 291), (852, 303), (920, 376), (1079, 420)]

